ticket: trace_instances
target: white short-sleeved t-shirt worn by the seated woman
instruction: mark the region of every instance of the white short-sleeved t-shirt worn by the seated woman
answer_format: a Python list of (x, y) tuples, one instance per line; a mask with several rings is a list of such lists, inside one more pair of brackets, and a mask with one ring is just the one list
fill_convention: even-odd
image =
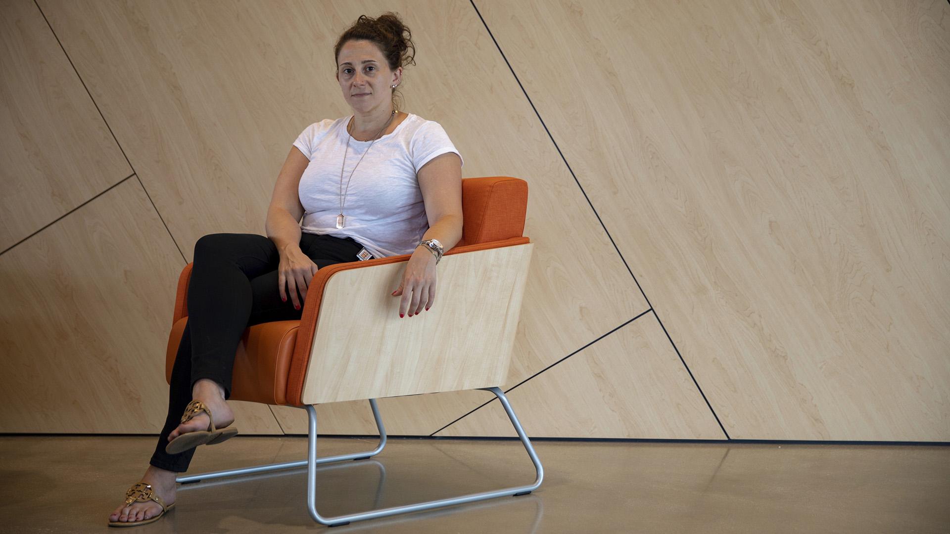
[[(344, 117), (311, 124), (294, 142), (310, 160), (297, 188), (304, 209), (300, 230), (353, 238), (373, 257), (411, 254), (428, 230), (416, 173), (432, 158), (459, 151), (440, 124), (411, 113), (391, 133), (372, 143), (371, 148), (371, 142), (351, 138), (347, 132), (349, 122), (350, 117)], [(347, 154), (342, 193), (346, 221), (343, 228), (337, 228), (344, 151)]]

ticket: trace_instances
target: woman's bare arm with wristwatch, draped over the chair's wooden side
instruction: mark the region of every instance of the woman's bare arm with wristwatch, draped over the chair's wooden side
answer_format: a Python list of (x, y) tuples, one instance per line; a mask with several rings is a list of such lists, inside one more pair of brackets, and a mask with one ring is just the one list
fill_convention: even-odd
[[(423, 240), (438, 239), (447, 251), (462, 239), (462, 159), (447, 152), (423, 165), (416, 175), (429, 226)], [(409, 312), (411, 317), (431, 308), (435, 289), (435, 256), (419, 245), (409, 257), (403, 283), (392, 292), (392, 296), (402, 296), (399, 316)]]

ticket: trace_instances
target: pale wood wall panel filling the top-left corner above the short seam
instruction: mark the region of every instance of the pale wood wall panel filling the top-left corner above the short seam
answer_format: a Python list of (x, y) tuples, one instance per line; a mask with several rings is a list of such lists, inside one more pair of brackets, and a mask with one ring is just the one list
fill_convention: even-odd
[(132, 174), (31, 0), (0, 16), (0, 251)]

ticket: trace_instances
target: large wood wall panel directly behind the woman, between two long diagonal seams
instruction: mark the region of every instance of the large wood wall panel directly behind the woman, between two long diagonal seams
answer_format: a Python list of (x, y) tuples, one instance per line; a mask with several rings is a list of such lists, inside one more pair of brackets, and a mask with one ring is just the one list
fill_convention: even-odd
[[(648, 307), (468, 2), (40, 6), (189, 259), (204, 234), (263, 234), (291, 143), (308, 124), (349, 113), (333, 80), (336, 36), (362, 13), (395, 10), (419, 50), (403, 109), (443, 124), (465, 176), (529, 184), (524, 235), (538, 246), (506, 384)], [(481, 402), (446, 417), (429, 400), (437, 395), (404, 398), (398, 410), (430, 432)]]

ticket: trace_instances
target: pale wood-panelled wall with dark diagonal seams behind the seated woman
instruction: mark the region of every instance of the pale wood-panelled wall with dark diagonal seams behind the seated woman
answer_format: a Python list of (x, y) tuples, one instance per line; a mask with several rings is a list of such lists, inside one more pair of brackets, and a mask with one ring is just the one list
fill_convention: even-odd
[[(549, 437), (950, 441), (945, 2), (2, 4), (0, 431), (157, 432), (194, 243), (264, 233), (333, 43), (416, 39), (403, 108), (530, 187), (502, 385)], [(49, 391), (56, 391), (50, 395)], [(508, 435), (485, 391), (391, 434)], [(370, 434), (365, 401), (321, 430)], [(238, 407), (247, 433), (300, 410)]]

